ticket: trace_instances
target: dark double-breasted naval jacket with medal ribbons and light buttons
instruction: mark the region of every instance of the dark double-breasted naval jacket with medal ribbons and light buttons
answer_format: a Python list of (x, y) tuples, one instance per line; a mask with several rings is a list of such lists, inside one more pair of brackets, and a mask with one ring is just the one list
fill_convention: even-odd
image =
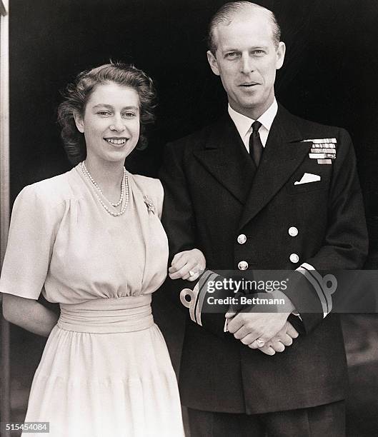
[[(334, 144), (332, 159), (314, 159), (317, 141), (312, 140), (319, 139)], [(308, 179), (305, 174), (317, 180), (298, 183)], [(160, 177), (171, 257), (199, 248), (210, 270), (241, 273), (293, 271), (303, 263), (318, 271), (357, 269), (364, 263), (364, 207), (344, 129), (299, 119), (279, 106), (256, 169), (227, 114), (168, 144)], [(339, 316), (324, 317), (312, 287), (289, 294), (302, 317), (302, 333), (274, 356), (224, 333), (224, 313), (202, 313), (200, 324), (189, 317), (180, 291), (193, 287), (169, 279), (164, 287), (186, 312), (179, 375), (185, 406), (267, 413), (344, 398), (347, 366)], [(304, 301), (319, 311), (302, 313)]]

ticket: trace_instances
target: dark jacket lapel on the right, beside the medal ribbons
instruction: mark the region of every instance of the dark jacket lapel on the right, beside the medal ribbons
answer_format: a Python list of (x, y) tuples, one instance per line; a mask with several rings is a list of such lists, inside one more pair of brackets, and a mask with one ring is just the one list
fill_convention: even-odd
[(247, 196), (240, 228), (269, 203), (309, 153), (311, 143), (301, 143), (302, 139), (294, 117), (279, 106)]

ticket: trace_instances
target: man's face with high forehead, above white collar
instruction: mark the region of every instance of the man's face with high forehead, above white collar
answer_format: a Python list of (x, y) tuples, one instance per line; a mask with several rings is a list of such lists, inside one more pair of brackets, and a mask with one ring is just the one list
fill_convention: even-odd
[(207, 52), (212, 71), (222, 79), (232, 109), (257, 119), (274, 101), (276, 70), (285, 45), (274, 45), (272, 24), (264, 14), (245, 12), (214, 29), (216, 56)]

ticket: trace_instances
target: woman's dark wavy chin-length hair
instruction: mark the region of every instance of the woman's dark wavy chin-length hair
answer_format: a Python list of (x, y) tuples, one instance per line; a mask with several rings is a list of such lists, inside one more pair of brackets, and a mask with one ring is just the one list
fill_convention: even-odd
[(58, 107), (58, 121), (64, 149), (71, 164), (79, 164), (86, 158), (84, 134), (77, 130), (74, 114), (84, 116), (86, 102), (96, 86), (109, 82), (129, 86), (138, 93), (140, 134), (136, 148), (140, 150), (146, 147), (146, 125), (154, 122), (156, 94), (152, 79), (133, 65), (120, 62), (104, 64), (79, 73), (74, 83), (69, 84), (62, 93), (64, 101)]

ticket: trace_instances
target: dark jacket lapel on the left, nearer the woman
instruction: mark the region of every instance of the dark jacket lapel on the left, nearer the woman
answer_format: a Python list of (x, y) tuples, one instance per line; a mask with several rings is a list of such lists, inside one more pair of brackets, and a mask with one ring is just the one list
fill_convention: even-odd
[(204, 149), (194, 151), (194, 155), (224, 188), (244, 204), (256, 167), (228, 114), (213, 126)]

